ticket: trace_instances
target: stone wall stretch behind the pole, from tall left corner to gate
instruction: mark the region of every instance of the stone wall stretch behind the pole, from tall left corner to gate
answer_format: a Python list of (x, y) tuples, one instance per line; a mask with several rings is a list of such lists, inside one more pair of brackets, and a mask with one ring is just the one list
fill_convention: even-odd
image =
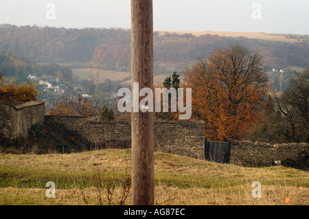
[[(69, 130), (76, 130), (87, 141), (93, 143), (126, 144), (130, 146), (130, 121), (93, 122), (86, 117), (45, 116), (45, 122), (63, 124)], [(155, 151), (180, 154), (203, 159), (203, 121), (158, 121), (154, 124)]]

